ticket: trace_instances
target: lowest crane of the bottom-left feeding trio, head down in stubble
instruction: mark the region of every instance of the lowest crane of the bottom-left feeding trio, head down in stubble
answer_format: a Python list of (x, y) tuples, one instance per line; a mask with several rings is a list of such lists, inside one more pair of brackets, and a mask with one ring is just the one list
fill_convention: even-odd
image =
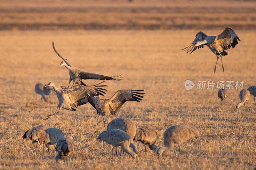
[(60, 138), (57, 142), (55, 150), (58, 155), (55, 157), (56, 163), (58, 164), (59, 159), (63, 159), (64, 163), (68, 165), (68, 157), (72, 156), (74, 153), (74, 141), (68, 137)]

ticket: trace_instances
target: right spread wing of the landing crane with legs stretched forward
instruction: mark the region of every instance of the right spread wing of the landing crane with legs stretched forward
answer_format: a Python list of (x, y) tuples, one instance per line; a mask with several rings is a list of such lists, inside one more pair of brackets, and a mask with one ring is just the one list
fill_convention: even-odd
[(107, 87), (107, 85), (100, 85), (101, 83), (97, 85), (80, 86), (75, 90), (65, 92), (66, 94), (68, 94), (68, 97), (70, 99), (70, 105), (77, 106), (77, 103), (79, 101), (89, 96), (98, 96), (106, 94), (104, 92), (106, 91), (106, 89), (103, 89), (101, 87)]

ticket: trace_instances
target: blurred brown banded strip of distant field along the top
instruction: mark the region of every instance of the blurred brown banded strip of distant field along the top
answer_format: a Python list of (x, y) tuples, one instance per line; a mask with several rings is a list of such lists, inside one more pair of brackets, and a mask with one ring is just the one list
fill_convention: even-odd
[(0, 30), (255, 30), (255, 11), (253, 1), (11, 0)]

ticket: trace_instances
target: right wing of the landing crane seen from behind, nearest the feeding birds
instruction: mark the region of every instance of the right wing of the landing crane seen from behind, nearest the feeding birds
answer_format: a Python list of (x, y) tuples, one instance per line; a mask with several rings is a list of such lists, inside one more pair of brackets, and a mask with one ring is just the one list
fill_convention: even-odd
[(126, 101), (137, 101), (140, 102), (140, 98), (143, 98), (141, 91), (144, 90), (118, 90), (109, 100), (109, 110), (112, 115), (116, 115), (116, 111), (126, 102)]

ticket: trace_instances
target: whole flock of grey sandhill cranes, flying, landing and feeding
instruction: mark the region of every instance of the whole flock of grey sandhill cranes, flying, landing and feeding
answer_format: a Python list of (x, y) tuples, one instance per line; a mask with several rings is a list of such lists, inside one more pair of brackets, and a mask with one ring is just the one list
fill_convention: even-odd
[[(234, 48), (240, 39), (230, 28), (226, 28), (220, 35), (217, 36), (207, 36), (203, 32), (196, 34), (196, 39), (191, 43), (190, 46), (184, 48), (187, 52), (192, 53), (196, 49), (203, 48), (204, 45), (207, 45), (211, 51), (217, 56), (217, 61), (219, 56), (228, 55), (227, 49)], [(143, 90), (118, 90), (110, 99), (100, 99), (100, 95), (103, 96), (106, 94), (107, 85), (103, 85), (103, 82), (96, 85), (86, 85), (82, 80), (86, 79), (97, 79), (97, 80), (121, 80), (121, 74), (119, 76), (104, 76), (100, 74), (94, 74), (89, 72), (80, 71), (76, 67), (72, 66), (67, 59), (64, 59), (55, 49), (54, 43), (52, 42), (52, 47), (55, 53), (63, 60), (60, 63), (60, 66), (65, 66), (69, 70), (69, 84), (64, 86), (56, 87), (53, 82), (48, 83), (47, 85), (36, 84), (35, 91), (42, 96), (46, 102), (45, 95), (54, 93), (57, 95), (59, 104), (55, 113), (47, 115), (45, 120), (48, 120), (51, 116), (56, 115), (60, 112), (60, 109), (67, 109), (71, 111), (76, 111), (78, 106), (90, 103), (94, 107), (97, 114), (102, 116), (102, 121), (106, 122), (106, 116), (116, 115), (118, 109), (126, 101), (137, 101), (140, 102), (145, 94)], [(216, 64), (217, 64), (216, 61)], [(216, 64), (214, 67), (214, 72), (216, 71)], [(224, 66), (222, 63), (222, 68), (224, 72)], [(70, 87), (70, 83), (73, 81), (73, 84)], [(76, 85), (77, 84), (77, 85)], [(251, 86), (248, 90), (244, 89), (240, 92), (241, 102), (237, 104), (236, 108), (238, 109), (242, 106), (250, 97), (250, 94), (254, 96), (254, 101), (256, 97), (256, 86)], [(221, 104), (228, 97), (227, 89), (220, 89), (218, 92), (218, 97), (221, 99)], [(256, 101), (255, 101), (256, 104)], [(96, 123), (95, 125), (99, 124)], [(158, 134), (155, 129), (152, 127), (140, 127), (136, 129), (135, 123), (131, 118), (117, 118), (112, 120), (107, 125), (107, 130), (103, 131), (97, 137), (97, 140), (100, 142), (106, 142), (113, 146), (111, 149), (112, 156), (113, 150), (115, 149), (116, 156), (118, 157), (117, 147), (121, 147), (120, 156), (122, 151), (125, 155), (127, 153), (134, 159), (138, 159), (138, 153), (140, 152), (137, 148), (137, 145), (134, 141), (140, 141), (145, 145), (145, 152), (147, 154), (146, 145), (149, 146), (149, 149), (158, 155), (158, 158), (161, 157), (162, 153), (165, 151), (170, 151), (174, 144), (179, 145), (179, 156), (180, 156), (180, 144), (189, 139), (194, 139), (200, 137), (198, 129), (192, 125), (175, 125), (171, 126), (164, 132), (164, 146), (157, 147), (156, 141), (158, 139)], [(38, 146), (43, 144), (43, 153), (44, 145), (49, 150), (57, 152), (55, 157), (56, 162), (58, 163), (59, 159), (64, 160), (68, 165), (68, 158), (72, 156), (75, 150), (74, 141), (70, 138), (64, 137), (60, 129), (51, 128), (49, 126), (36, 126), (32, 129), (29, 129), (23, 135), (23, 139), (32, 140), (32, 143), (36, 143), (36, 155)], [(179, 158), (178, 156), (178, 158)]]

